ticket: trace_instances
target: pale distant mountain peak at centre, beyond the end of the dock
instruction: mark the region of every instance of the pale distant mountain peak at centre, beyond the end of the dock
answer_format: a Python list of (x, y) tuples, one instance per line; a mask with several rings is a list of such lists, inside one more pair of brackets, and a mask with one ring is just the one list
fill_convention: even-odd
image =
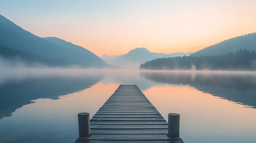
[(125, 55), (112, 59), (109, 64), (114, 64), (123, 68), (139, 68), (141, 63), (150, 61), (151, 59), (191, 55), (191, 53), (172, 53), (167, 55), (165, 53), (152, 53), (146, 48), (135, 48)]

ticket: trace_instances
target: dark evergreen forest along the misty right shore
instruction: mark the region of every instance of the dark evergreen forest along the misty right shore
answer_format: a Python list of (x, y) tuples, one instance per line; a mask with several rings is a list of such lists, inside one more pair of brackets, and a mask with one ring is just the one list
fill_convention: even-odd
[(222, 55), (183, 56), (152, 59), (140, 69), (151, 70), (256, 70), (256, 52), (240, 49)]

